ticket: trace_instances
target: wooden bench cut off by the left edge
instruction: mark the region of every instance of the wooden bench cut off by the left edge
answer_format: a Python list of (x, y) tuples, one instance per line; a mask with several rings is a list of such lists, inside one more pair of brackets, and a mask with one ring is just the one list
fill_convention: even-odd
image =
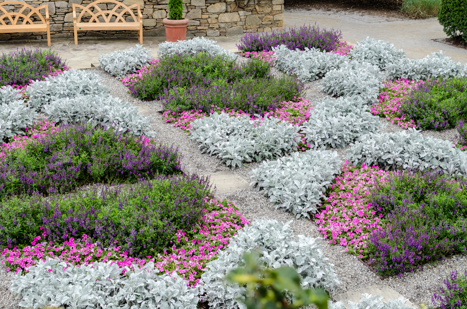
[[(22, 5), (22, 7), (18, 12), (8, 12), (4, 6), (9, 5)], [(43, 8), (46, 10), (45, 19), (39, 12)], [(29, 9), (29, 13), (24, 13), (27, 9)], [(49, 6), (47, 4), (33, 7), (25, 2), (5, 1), (0, 3), (0, 11), (4, 13), (0, 16), (0, 33), (47, 32), (47, 45), (50, 46)], [(38, 15), (42, 23), (34, 23), (34, 20), (31, 18), (34, 14)]]

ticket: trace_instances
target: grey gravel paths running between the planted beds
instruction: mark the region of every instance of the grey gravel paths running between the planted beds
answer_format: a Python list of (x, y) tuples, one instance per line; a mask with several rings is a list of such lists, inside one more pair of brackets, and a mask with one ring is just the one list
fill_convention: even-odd
[[(244, 63), (245, 59), (237, 59), (236, 61), (237, 63)], [(127, 87), (125, 87), (121, 83), (116, 82), (115, 77), (112, 77), (109, 73), (103, 71), (100, 68), (91, 69), (91, 70), (88, 70), (88, 72), (97, 73), (99, 76), (101, 76), (102, 78), (99, 81), (99, 87), (101, 86), (108, 87), (107, 91), (112, 93), (112, 96), (122, 99), (122, 101), (126, 100), (128, 102), (131, 102), (132, 104), (148, 105), (151, 109), (156, 110), (156, 111), (164, 110), (165, 109), (164, 106), (167, 106), (167, 104), (164, 105), (164, 102), (161, 102), (158, 100), (142, 101), (138, 98), (130, 96), (127, 93), (127, 89), (128, 89)], [(282, 78), (284, 76), (282, 72), (280, 72), (279, 70), (275, 68), (271, 69), (271, 75), (277, 78)], [(305, 86), (307, 86), (308, 89), (306, 93), (304, 93), (304, 98), (300, 99), (299, 102), (306, 102), (306, 99), (322, 99), (326, 94), (324, 92), (321, 92), (319, 88), (317, 87), (317, 85), (318, 85), (318, 81), (306, 82)], [(371, 100), (370, 97), (368, 97), (368, 99)], [(316, 111), (323, 110), (323, 112), (327, 112), (326, 110), (331, 110), (332, 108), (337, 106), (336, 107), (337, 109), (340, 107), (350, 108), (350, 110), (352, 110), (352, 113), (363, 114), (363, 112), (360, 109), (358, 110), (353, 109), (353, 107), (350, 106), (351, 104), (349, 105), (348, 101), (345, 101), (345, 100), (340, 100), (340, 101), (336, 100), (336, 101), (337, 103), (334, 101), (329, 101), (325, 99), (321, 101), (321, 105), (317, 104), (313, 108)], [(293, 103), (297, 103), (297, 102), (293, 102)], [(48, 107), (46, 107), (46, 110), (47, 108)], [(339, 116), (342, 116), (342, 115), (340, 115), (337, 112), (336, 117), (339, 117)], [(186, 131), (184, 131), (181, 128), (174, 127), (173, 125), (166, 123), (165, 118), (166, 117), (164, 116), (164, 114), (161, 115), (159, 113), (155, 113), (152, 119), (150, 119), (147, 122), (147, 127), (145, 128), (145, 130), (148, 130), (148, 131), (150, 130), (154, 132), (154, 138), (152, 138), (152, 142), (155, 142), (155, 143), (166, 143), (167, 142), (170, 144), (177, 145), (178, 150), (184, 155), (184, 157), (180, 159), (181, 163), (179, 165), (182, 171), (186, 173), (192, 173), (192, 174), (195, 174), (195, 173), (196, 174), (209, 174), (209, 173), (216, 172), (216, 171), (229, 170), (229, 166), (226, 166), (226, 164), (224, 163), (225, 160), (222, 160), (220, 158), (217, 158), (215, 156), (212, 156), (206, 153), (205, 154), (201, 153), (199, 151), (199, 145), (190, 139)], [(401, 126), (392, 124), (388, 120), (385, 120), (385, 119), (382, 119), (382, 120), (383, 120), (382, 121), (383, 123), (387, 122), (387, 125), (384, 128), (380, 129), (379, 132), (392, 133), (392, 132), (400, 132), (404, 130)], [(245, 121), (247, 121), (247, 119)], [(247, 123), (247, 122), (244, 122), (244, 123)], [(252, 125), (252, 127), (256, 127), (255, 123), (250, 123), (250, 125)], [(371, 127), (371, 125), (368, 125), (368, 126)], [(358, 138), (358, 135), (355, 135), (354, 137), (352, 136), (353, 135), (350, 135), (350, 137), (346, 137), (350, 139), (346, 141), (347, 145), (344, 145), (344, 147), (342, 148), (336, 149), (336, 148), (332, 148), (331, 146), (332, 150), (337, 150), (338, 152), (337, 155), (335, 156), (333, 155), (332, 157), (330, 156), (327, 157), (326, 153), (328, 152), (323, 151), (322, 157), (323, 158), (327, 157), (326, 159), (328, 159), (330, 162), (329, 165), (340, 166), (338, 164), (337, 159), (338, 158), (344, 159), (345, 157), (344, 151), (350, 149), (352, 147), (351, 142), (355, 140), (355, 139), (352, 140), (352, 138), (355, 138), (355, 136), (356, 138)], [(424, 136), (424, 137), (441, 136), (441, 137), (445, 137), (444, 139), (448, 139), (451, 141), (453, 137), (452, 131), (447, 131), (447, 130), (444, 130), (444, 131), (425, 130), (422, 132), (421, 136)], [(318, 152), (319, 151), (309, 152), (309, 153), (314, 153), (313, 155), (318, 155), (316, 154)], [(302, 159), (301, 156), (307, 152), (294, 151), (292, 153), (293, 153), (292, 157), (296, 157), (296, 159), (299, 161)], [(319, 160), (319, 156), (316, 156), (316, 157), (310, 156), (309, 159)], [(244, 164), (235, 168), (234, 172), (240, 175), (246, 181), (251, 181), (251, 175), (255, 174), (254, 170), (258, 168), (264, 168), (264, 159), (259, 158), (256, 161), (253, 160), (253, 162), (244, 162)], [(338, 172), (336, 171), (334, 172), (334, 174), (335, 173), (338, 173)], [(332, 178), (334, 177), (332, 176), (332, 173), (331, 174), (322, 173), (320, 177), (321, 176), (322, 176), (322, 179), (326, 181), (332, 180)], [(90, 190), (90, 189), (92, 190), (93, 188), (100, 188), (100, 187), (102, 187), (101, 184), (93, 184), (91, 182), (91, 183), (88, 183), (86, 188), (87, 190)], [(282, 209), (277, 209), (277, 205), (274, 205), (273, 203), (271, 203), (270, 199), (264, 196), (264, 191), (257, 191), (254, 188), (248, 188), (248, 189), (244, 189), (241, 191), (225, 193), (225, 194), (216, 193), (216, 197), (221, 198), (221, 199), (227, 198), (233, 201), (239, 207), (238, 214), (240, 213), (243, 214), (243, 216), (250, 221), (253, 221), (259, 218), (276, 219), (282, 222), (291, 220), (292, 222), (290, 224), (290, 229), (293, 230), (294, 234), (305, 234), (305, 235), (311, 235), (313, 237), (322, 236), (321, 234), (322, 230), (320, 230), (319, 226), (316, 226), (316, 224), (313, 224), (307, 220), (297, 219), (297, 216), (295, 214), (304, 215), (307, 213), (308, 210), (305, 210), (302, 213), (295, 212), (295, 214), (291, 214), (289, 212), (283, 211)], [(282, 206), (287, 207), (286, 205), (282, 205)], [(318, 207), (318, 211), (319, 211), (319, 207)], [(308, 214), (309, 216), (312, 216), (313, 211), (308, 212)], [(263, 223), (258, 223), (258, 224), (261, 225)], [(271, 224), (271, 223), (266, 223), (266, 225), (267, 224)], [(38, 227), (37, 224), (35, 226)], [(44, 236), (46, 236), (48, 232), (49, 230), (45, 231)], [(31, 232), (31, 234), (29, 235), (30, 238), (34, 237), (33, 235), (34, 233), (37, 233), (37, 230), (34, 230)], [(96, 237), (96, 235), (94, 237)], [(17, 239), (15, 241), (18, 241), (18, 237), (15, 239)], [(28, 241), (31, 241), (31, 239), (29, 239)], [(116, 241), (120, 241), (120, 240), (121, 240), (120, 238), (116, 239)], [(36, 239), (34, 239), (33, 242), (34, 241), (37, 242)], [(344, 246), (341, 246), (341, 245), (330, 246), (329, 244), (327, 244), (327, 242), (328, 240), (321, 241), (321, 243), (324, 244), (323, 251), (325, 255), (329, 257), (329, 261), (335, 265), (334, 269), (336, 271), (337, 277), (339, 280), (342, 281), (342, 284), (336, 286), (336, 289), (333, 291), (334, 293), (357, 289), (358, 287), (361, 287), (362, 285), (366, 286), (366, 285), (371, 285), (371, 284), (381, 282), (380, 281), (381, 278), (379, 276), (377, 276), (369, 268), (367, 268), (362, 263), (360, 263), (360, 261), (358, 260), (359, 259), (358, 256), (347, 253), (344, 250)], [(144, 254), (146, 253), (147, 252), (144, 251)], [(365, 252), (363, 251), (362, 253), (365, 254)], [(363, 257), (363, 254), (356, 254), (356, 255), (362, 255), (360, 257)], [(384, 279), (383, 284), (392, 286), (394, 289), (402, 293), (404, 296), (408, 297), (412, 302), (415, 302), (415, 303), (418, 303), (420, 301), (429, 302), (430, 301), (429, 297), (431, 297), (433, 292), (436, 291), (436, 289), (439, 286), (440, 278), (446, 275), (446, 273), (448, 272), (446, 269), (449, 269), (449, 270), (456, 269), (458, 271), (462, 271), (463, 269), (461, 267), (462, 267), (462, 264), (465, 264), (465, 261), (467, 261), (465, 255), (456, 254), (453, 256), (449, 256), (449, 258), (447, 259), (439, 260), (436, 263), (424, 264), (423, 269), (419, 269), (415, 272), (403, 273), (399, 277), (387, 277)], [(14, 267), (15, 261), (12, 260), (10, 264), (11, 265), (9, 266)], [(193, 279), (193, 278), (190, 278), (190, 279)]]

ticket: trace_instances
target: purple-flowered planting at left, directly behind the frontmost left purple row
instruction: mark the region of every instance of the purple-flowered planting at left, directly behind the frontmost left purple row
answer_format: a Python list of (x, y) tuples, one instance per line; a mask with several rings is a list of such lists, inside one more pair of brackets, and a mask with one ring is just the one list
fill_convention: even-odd
[(0, 158), (0, 196), (73, 190), (90, 182), (128, 182), (180, 172), (178, 149), (89, 124), (53, 134)]

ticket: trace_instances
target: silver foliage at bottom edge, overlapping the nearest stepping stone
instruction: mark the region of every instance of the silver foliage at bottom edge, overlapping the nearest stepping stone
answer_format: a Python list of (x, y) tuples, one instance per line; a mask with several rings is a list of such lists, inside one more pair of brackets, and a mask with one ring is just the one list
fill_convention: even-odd
[[(383, 297), (379, 295), (370, 295), (368, 293), (361, 294), (360, 302), (348, 301), (349, 309), (407, 309), (411, 308), (405, 305), (407, 299), (400, 296), (398, 299), (389, 299), (382, 301)], [(328, 300), (328, 309), (345, 309), (342, 301), (332, 302)], [(414, 308), (412, 308), (414, 309)]]

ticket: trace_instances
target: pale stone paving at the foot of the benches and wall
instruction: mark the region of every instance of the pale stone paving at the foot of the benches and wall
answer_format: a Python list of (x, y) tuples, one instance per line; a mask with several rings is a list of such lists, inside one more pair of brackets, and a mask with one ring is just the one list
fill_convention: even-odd
[[(232, 52), (238, 52), (235, 44), (238, 40), (230, 37), (216, 37), (215, 41), (225, 49)], [(154, 57), (157, 57), (159, 43), (165, 41), (165, 36), (148, 36), (143, 37), (143, 46), (150, 49)], [(99, 55), (112, 52), (119, 49), (127, 49), (135, 46), (138, 43), (137, 39), (82, 39), (78, 45), (75, 45), (73, 39), (52, 39), (51, 48), (67, 59), (68, 64), (72, 68), (90, 68), (93, 65), (99, 64)], [(31, 40), (27, 42), (11, 42), (2, 41), (0, 43), (0, 53), (8, 53), (17, 50), (17, 48), (49, 48), (47, 41)]]

